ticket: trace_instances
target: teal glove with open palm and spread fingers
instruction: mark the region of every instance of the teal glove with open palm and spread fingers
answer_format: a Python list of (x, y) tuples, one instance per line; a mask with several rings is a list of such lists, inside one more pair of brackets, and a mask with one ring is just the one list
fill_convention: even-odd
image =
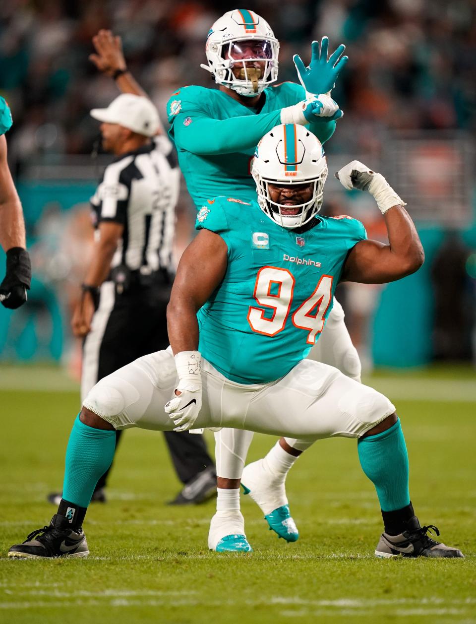
[(328, 93), (333, 89), (336, 80), (349, 60), (348, 56), (342, 56), (346, 49), (341, 44), (328, 59), (329, 38), (323, 37), (321, 41), (321, 51), (319, 52), (319, 41), (311, 44), (311, 62), (309, 67), (304, 67), (304, 63), (298, 54), (294, 54), (293, 61), (298, 72), (299, 82), (308, 93), (319, 95)]

